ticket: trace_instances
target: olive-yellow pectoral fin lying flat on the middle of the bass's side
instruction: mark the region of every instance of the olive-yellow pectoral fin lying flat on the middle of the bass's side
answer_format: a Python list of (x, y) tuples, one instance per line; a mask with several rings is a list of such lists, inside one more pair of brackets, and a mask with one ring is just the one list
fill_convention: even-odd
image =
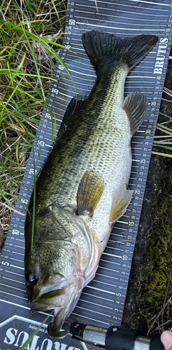
[(99, 176), (93, 172), (85, 172), (78, 187), (76, 214), (82, 215), (88, 212), (92, 216), (102, 193), (103, 182)]

